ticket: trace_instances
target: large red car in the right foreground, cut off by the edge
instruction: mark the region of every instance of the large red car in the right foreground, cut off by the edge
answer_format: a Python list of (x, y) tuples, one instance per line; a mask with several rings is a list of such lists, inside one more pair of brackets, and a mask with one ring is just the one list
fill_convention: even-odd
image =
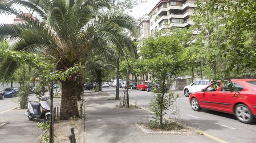
[[(256, 79), (231, 80), (233, 87), (239, 92), (230, 92), (227, 84), (216, 89), (207, 86), (202, 91), (189, 96), (191, 107), (195, 111), (201, 108), (234, 114), (236, 118), (246, 124), (256, 120)], [(240, 94), (240, 96), (234, 95)]]

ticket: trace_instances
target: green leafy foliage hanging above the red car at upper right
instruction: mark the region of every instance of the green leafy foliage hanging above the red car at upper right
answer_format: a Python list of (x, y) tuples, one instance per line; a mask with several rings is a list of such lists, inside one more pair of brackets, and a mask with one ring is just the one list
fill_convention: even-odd
[[(197, 0), (198, 12), (203, 15), (219, 15), (221, 31), (227, 43), (219, 48), (226, 61), (223, 77), (230, 78), (232, 72), (242, 72), (244, 67), (256, 68), (256, 1), (255, 0)], [(219, 20), (215, 20), (219, 21)], [(209, 24), (211, 21), (206, 21)]]

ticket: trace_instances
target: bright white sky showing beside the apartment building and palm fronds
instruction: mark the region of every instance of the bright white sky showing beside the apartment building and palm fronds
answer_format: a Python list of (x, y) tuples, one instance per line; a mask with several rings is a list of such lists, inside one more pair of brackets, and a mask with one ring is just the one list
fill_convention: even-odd
[[(135, 19), (142, 17), (144, 14), (149, 13), (152, 8), (158, 3), (159, 0), (147, 0), (146, 3), (140, 4), (137, 7), (132, 9), (130, 15), (134, 16)], [(27, 10), (24, 8), (20, 8), (24, 12)], [(15, 15), (0, 15), (0, 23), (13, 23), (13, 19)]]

